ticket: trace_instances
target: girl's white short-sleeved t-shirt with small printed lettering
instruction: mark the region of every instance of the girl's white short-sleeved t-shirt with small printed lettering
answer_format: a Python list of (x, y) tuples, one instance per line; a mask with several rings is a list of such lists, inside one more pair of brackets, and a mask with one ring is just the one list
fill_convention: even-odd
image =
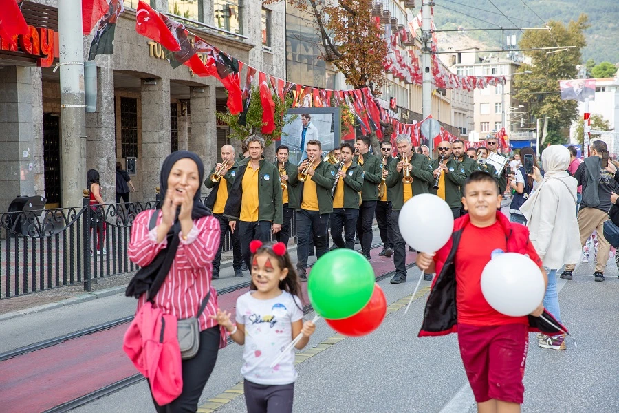
[(241, 367), (246, 380), (264, 385), (296, 381), (294, 349), (269, 366), (292, 341), (292, 323), (303, 319), (301, 308), (301, 300), (286, 291), (272, 299), (255, 299), (250, 291), (237, 299), (237, 323), (246, 331)]

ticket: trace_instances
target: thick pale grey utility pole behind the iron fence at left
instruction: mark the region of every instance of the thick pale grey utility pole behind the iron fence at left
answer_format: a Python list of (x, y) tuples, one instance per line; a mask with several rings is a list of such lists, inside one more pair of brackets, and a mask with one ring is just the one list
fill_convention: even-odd
[(86, 184), (82, 2), (58, 0), (61, 87), (61, 202), (81, 207)]

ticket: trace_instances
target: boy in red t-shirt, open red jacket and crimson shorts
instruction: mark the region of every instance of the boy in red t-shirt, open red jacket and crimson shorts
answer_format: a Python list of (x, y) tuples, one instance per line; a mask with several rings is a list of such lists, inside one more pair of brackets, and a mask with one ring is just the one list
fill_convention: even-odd
[[(509, 222), (500, 212), (499, 187), (489, 173), (470, 175), (462, 203), (468, 215), (454, 222), (453, 236), (446, 246), (435, 254), (417, 255), (419, 268), (437, 273), (420, 336), (457, 331), (478, 412), (520, 412), (529, 319), (503, 315), (492, 308), (481, 293), (481, 273), (492, 255), (509, 251), (528, 254), (547, 283), (546, 274), (526, 227)], [(540, 303), (531, 315), (542, 313)]]

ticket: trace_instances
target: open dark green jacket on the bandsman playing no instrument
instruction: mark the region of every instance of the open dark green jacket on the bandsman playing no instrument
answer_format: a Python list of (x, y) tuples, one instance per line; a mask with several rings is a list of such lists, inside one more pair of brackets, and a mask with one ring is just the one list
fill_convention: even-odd
[[(243, 199), (243, 176), (249, 164), (250, 158), (246, 158), (239, 164), (235, 182), (228, 192), (228, 202), (224, 208), (224, 215), (233, 220), (241, 216), (241, 200)], [(281, 186), (279, 184), (279, 171), (277, 167), (265, 160), (259, 161), (258, 171), (258, 220), (272, 221), (274, 224), (282, 222)]]

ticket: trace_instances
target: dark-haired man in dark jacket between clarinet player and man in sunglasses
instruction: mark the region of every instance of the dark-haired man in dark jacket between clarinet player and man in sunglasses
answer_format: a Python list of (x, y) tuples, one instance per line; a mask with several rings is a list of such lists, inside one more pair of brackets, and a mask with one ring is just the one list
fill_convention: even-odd
[(371, 140), (368, 136), (359, 136), (355, 143), (357, 156), (355, 162), (362, 169), (363, 190), (361, 191), (361, 207), (359, 209), (359, 218), (357, 220), (357, 235), (361, 244), (361, 250), (364, 257), (368, 260), (370, 257), (370, 248), (372, 246), (372, 220), (374, 219), (374, 210), (376, 209), (376, 201), (378, 201), (378, 184), (382, 181), (382, 169), (380, 167), (380, 158), (369, 153), (369, 145)]

